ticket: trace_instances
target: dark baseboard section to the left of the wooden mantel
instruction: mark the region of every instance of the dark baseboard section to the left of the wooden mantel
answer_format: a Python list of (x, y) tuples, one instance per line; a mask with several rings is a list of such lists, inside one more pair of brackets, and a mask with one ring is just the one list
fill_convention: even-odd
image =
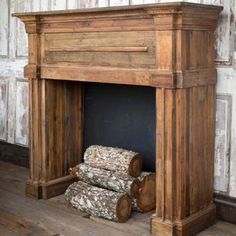
[(29, 148), (0, 141), (0, 160), (29, 167)]

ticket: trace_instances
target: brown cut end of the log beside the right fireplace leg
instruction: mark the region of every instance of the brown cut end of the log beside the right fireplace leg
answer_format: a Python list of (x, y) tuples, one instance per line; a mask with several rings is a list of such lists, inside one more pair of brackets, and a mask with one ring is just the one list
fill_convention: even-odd
[(144, 177), (140, 183), (137, 195), (137, 206), (144, 212), (151, 211), (156, 206), (156, 175)]

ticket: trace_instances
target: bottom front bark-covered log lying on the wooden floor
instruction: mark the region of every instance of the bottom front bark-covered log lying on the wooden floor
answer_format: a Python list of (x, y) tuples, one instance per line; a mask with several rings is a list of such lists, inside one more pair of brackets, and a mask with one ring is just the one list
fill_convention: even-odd
[(68, 187), (65, 195), (75, 208), (92, 216), (125, 222), (131, 214), (131, 199), (124, 193), (78, 181)]

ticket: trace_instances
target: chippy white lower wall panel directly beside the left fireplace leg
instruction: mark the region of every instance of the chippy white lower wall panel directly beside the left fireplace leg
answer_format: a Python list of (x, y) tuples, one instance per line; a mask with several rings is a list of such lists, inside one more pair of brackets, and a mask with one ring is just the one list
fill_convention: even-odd
[(16, 86), (15, 132), (15, 142), (28, 145), (28, 82), (24, 81), (18, 81)]

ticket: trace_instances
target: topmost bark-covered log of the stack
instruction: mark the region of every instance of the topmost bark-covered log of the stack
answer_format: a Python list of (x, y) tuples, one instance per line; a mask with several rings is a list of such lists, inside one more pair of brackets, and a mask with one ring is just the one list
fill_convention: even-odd
[(93, 167), (115, 171), (123, 176), (137, 177), (142, 170), (140, 154), (114, 147), (92, 145), (84, 153), (84, 162)]

